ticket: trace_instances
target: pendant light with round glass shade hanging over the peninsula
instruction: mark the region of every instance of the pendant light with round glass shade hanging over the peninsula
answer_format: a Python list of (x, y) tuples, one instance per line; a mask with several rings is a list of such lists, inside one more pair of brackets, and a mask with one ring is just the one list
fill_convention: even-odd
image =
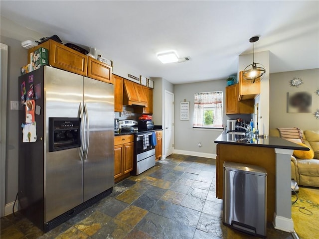
[(248, 65), (243, 71), (243, 79), (249, 83), (256, 83), (260, 81), (266, 73), (265, 67), (262, 64), (255, 63), (255, 42), (258, 40), (258, 36), (254, 36), (249, 39), (249, 42), (254, 43), (253, 63)]

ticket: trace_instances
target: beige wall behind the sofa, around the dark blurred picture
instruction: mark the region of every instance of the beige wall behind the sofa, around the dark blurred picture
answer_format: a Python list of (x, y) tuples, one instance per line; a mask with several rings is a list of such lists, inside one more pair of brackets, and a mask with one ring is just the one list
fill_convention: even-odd
[[(302, 78), (303, 84), (291, 87), (290, 81)], [(319, 130), (319, 119), (314, 113), (319, 110), (319, 69), (290, 71), (270, 74), (270, 121), (269, 128), (298, 127), (303, 130)], [(288, 113), (287, 93), (306, 91), (312, 94), (311, 113)]]

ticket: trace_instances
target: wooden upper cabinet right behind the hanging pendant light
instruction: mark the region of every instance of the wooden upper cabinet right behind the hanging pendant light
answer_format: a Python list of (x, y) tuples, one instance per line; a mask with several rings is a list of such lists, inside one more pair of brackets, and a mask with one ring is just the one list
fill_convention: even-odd
[(239, 92), (238, 100), (254, 99), (260, 94), (260, 81), (254, 84), (243, 80), (243, 72), (239, 72)]

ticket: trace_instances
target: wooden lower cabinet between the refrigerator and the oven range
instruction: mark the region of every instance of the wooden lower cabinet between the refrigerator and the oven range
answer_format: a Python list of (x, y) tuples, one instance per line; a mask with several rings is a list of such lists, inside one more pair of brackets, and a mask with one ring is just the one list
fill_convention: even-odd
[(114, 181), (128, 176), (133, 170), (134, 135), (119, 135), (114, 138)]

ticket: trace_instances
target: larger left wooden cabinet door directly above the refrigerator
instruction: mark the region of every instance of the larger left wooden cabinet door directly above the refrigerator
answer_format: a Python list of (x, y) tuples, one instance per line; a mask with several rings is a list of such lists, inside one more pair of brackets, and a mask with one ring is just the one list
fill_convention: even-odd
[(51, 66), (87, 76), (87, 61), (86, 55), (50, 40), (49, 64)]

